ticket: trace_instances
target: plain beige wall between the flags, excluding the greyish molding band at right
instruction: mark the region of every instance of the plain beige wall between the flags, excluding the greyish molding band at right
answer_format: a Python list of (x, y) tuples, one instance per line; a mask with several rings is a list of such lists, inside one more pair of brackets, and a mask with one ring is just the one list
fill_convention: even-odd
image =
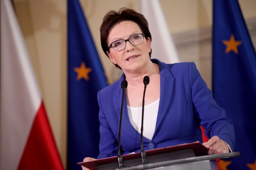
[[(256, 17), (256, 1), (240, 0), (244, 17)], [(117, 70), (100, 47), (103, 16), (121, 7), (140, 11), (138, 0), (81, 0), (108, 81)], [(182, 34), (211, 27), (211, 0), (160, 0), (170, 32)], [(63, 0), (14, 0), (15, 10), (43, 95), (52, 131), (66, 166), (67, 145), (67, 2)], [(184, 51), (184, 49), (182, 48)], [(182, 51), (179, 51), (182, 53)], [(211, 56), (211, 51), (208, 51)], [(200, 58), (200, 56), (198, 56)], [(183, 60), (196, 60), (186, 58)], [(182, 61), (183, 61), (182, 60)], [(205, 68), (211, 70), (208, 68)], [(204, 72), (204, 67), (199, 69)], [(209, 71), (208, 71), (209, 72)], [(210, 72), (203, 78), (210, 84)]]

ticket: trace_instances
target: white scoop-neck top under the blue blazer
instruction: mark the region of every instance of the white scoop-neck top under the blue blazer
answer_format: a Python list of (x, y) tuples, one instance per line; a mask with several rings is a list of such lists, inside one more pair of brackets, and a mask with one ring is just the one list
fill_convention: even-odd
[[(155, 132), (159, 100), (160, 98), (153, 103), (144, 106), (143, 136), (149, 140), (152, 140)], [(127, 108), (132, 126), (140, 133), (142, 107), (127, 106)]]

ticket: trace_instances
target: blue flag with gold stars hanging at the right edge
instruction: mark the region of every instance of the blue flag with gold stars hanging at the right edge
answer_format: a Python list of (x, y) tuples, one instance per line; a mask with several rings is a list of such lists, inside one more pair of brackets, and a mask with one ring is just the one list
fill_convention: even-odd
[(255, 169), (255, 51), (237, 0), (213, 2), (213, 97), (232, 120), (235, 151), (241, 152), (224, 164), (227, 169)]

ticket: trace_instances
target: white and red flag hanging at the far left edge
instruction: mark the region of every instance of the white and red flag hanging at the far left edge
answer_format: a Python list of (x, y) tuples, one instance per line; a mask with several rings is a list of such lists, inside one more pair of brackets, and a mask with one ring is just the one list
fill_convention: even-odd
[(63, 170), (10, 0), (1, 0), (0, 169)]

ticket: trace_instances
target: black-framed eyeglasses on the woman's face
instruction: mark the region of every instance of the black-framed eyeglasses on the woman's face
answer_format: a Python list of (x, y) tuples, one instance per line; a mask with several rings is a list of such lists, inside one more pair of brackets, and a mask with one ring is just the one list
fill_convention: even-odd
[(109, 48), (113, 48), (115, 51), (122, 51), (126, 46), (126, 41), (129, 41), (132, 45), (140, 45), (143, 42), (144, 33), (132, 35), (127, 40), (117, 40), (109, 45)]

